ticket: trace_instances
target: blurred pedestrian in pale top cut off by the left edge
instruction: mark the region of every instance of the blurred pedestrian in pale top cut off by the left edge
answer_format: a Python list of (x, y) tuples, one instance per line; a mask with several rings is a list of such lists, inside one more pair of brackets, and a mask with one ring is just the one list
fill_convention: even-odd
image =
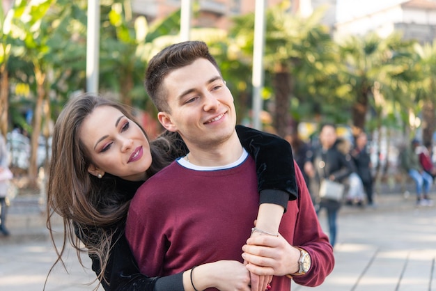
[(12, 173), (8, 167), (8, 150), (3, 135), (0, 134), (0, 232), (9, 235), (6, 228), (6, 213), (8, 211), (8, 181), (12, 179)]

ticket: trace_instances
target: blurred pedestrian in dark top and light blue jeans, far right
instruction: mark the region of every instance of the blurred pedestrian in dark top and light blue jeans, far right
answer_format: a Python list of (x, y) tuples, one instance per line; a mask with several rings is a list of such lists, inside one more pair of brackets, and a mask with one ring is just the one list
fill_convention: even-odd
[(414, 180), (416, 187), (416, 205), (428, 206), (433, 202), (428, 196), (430, 187), (433, 184), (433, 178), (423, 170), (419, 163), (419, 156), (416, 148), (419, 147), (419, 141), (413, 139), (410, 146), (406, 146), (400, 152), (400, 165), (404, 171)]

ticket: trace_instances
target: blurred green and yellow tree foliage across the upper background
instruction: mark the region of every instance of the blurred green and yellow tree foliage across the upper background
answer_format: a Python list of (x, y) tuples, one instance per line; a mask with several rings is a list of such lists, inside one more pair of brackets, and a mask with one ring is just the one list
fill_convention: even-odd
[[(33, 92), (33, 68), (40, 66), (50, 72), (48, 88), (56, 118), (69, 95), (85, 90), (87, 1), (30, 3), (15, 1), (10, 11), (12, 26), (0, 10), (0, 65), (13, 58), (8, 62), (11, 84), (29, 83)], [(129, 14), (128, 2), (104, 0), (100, 4), (100, 90), (125, 95), (132, 105), (150, 108), (143, 89), (146, 64), (164, 46), (178, 41), (180, 10), (149, 25), (145, 17)], [(291, 15), (290, 1), (267, 10), (265, 110), (269, 111), (268, 106), (275, 101), (278, 88), (274, 76), (281, 70), (288, 73), (291, 89), (288, 114), (297, 121), (313, 120), (320, 114), (349, 123), (352, 106), (365, 92), (372, 116), (366, 127), (407, 124), (408, 111), (418, 116), (421, 108), (416, 104), (436, 98), (435, 43), (418, 45), (396, 33), (388, 38), (368, 33), (335, 42), (327, 27), (320, 24), (324, 13), (318, 9), (306, 18)], [(238, 116), (244, 118), (251, 107), (254, 14), (233, 20), (228, 32), (196, 28), (192, 38), (210, 45), (235, 96)], [(128, 84), (131, 86), (126, 89)], [(375, 84), (380, 95), (374, 93)]]

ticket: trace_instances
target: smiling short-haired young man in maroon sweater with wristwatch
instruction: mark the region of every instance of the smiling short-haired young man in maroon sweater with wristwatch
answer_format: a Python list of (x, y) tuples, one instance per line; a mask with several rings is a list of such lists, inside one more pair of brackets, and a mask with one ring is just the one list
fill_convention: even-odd
[[(162, 50), (148, 65), (146, 88), (160, 123), (182, 136), (189, 154), (150, 178), (132, 200), (126, 236), (141, 272), (175, 274), (206, 262), (246, 260), (250, 272), (274, 275), (274, 290), (290, 290), (290, 277), (320, 285), (334, 256), (297, 166), (298, 198), (288, 202), (279, 235), (267, 221), (253, 228), (254, 161), (238, 140), (233, 96), (207, 45), (190, 41)], [(283, 208), (277, 212), (281, 217)], [(251, 232), (261, 235), (247, 240)], [(191, 272), (193, 290), (205, 288), (200, 271)]]

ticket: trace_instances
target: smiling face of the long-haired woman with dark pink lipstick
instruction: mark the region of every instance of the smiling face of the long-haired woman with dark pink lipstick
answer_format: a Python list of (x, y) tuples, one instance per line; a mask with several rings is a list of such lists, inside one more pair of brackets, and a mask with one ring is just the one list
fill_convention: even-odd
[(100, 106), (87, 116), (79, 138), (91, 157), (88, 172), (110, 173), (130, 181), (146, 179), (152, 158), (150, 144), (141, 128), (118, 109)]

